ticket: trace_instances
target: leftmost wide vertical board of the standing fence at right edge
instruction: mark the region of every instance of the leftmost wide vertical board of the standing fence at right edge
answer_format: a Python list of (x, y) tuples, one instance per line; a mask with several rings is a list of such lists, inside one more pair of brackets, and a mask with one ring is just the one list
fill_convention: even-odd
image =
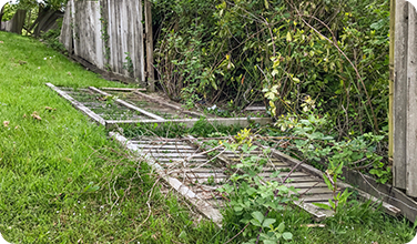
[(394, 186), (406, 189), (408, 0), (397, 0), (394, 82)]

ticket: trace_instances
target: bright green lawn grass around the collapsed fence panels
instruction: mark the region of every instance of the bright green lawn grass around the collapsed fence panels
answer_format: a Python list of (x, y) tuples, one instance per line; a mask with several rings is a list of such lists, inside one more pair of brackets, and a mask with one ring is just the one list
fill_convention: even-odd
[[(0, 41), (1, 243), (224, 243), (242, 230), (231, 212), (222, 230), (205, 221), (197, 225), (186, 204), (159, 191), (146, 164), (44, 85), (123, 84), (98, 78), (35, 40), (0, 32)], [(34, 111), (40, 121), (31, 116)], [(352, 205), (323, 228), (306, 227), (314, 223), (311, 216), (289, 206), (274, 217), (294, 234), (292, 243), (416, 243), (408, 222), (367, 205)]]

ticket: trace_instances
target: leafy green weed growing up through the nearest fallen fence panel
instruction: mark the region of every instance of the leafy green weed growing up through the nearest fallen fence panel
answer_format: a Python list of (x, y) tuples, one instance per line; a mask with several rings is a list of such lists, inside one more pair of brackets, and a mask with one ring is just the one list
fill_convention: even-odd
[[(295, 196), (294, 186), (287, 187), (278, 181), (268, 181), (260, 176), (267, 163), (269, 150), (262, 155), (251, 155), (258, 146), (252, 144), (251, 132), (242, 130), (235, 142), (221, 142), (227, 150), (240, 155), (240, 161), (231, 167), (235, 173), (230, 177), (231, 184), (225, 184), (218, 191), (230, 199), (228, 205), (233, 215), (246, 225), (243, 235), (250, 240), (245, 243), (277, 243), (279, 240), (292, 240), (293, 234), (285, 231), (284, 222), (271, 215), (284, 211)], [(281, 172), (276, 171), (271, 179), (276, 179)], [(288, 173), (289, 175), (289, 173)], [(269, 216), (268, 216), (269, 215)]]

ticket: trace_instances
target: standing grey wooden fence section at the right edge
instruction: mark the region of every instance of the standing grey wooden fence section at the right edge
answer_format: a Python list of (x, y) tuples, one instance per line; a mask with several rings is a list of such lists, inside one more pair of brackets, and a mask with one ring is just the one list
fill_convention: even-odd
[(417, 1), (396, 0), (394, 186), (417, 196)]

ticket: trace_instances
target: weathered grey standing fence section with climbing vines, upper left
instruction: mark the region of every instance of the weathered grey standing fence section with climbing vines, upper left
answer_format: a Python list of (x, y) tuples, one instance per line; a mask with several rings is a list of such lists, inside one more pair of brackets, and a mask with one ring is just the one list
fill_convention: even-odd
[(70, 0), (61, 42), (70, 55), (143, 83), (142, 1)]

